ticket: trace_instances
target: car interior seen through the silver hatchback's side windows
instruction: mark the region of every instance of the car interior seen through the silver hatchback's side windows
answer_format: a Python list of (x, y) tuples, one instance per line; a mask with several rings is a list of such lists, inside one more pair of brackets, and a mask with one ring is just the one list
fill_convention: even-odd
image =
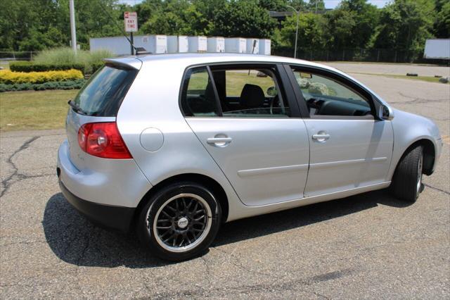
[[(371, 115), (369, 102), (354, 89), (329, 77), (293, 70), (311, 117)], [(213, 68), (224, 117), (288, 118), (290, 109), (272, 68)], [(181, 106), (186, 116), (217, 116), (217, 99), (206, 68), (186, 76)]]

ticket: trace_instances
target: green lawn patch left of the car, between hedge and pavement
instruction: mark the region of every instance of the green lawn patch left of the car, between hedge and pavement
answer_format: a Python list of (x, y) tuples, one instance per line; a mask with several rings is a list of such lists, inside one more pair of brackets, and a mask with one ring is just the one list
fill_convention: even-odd
[(0, 93), (0, 132), (63, 128), (78, 90)]

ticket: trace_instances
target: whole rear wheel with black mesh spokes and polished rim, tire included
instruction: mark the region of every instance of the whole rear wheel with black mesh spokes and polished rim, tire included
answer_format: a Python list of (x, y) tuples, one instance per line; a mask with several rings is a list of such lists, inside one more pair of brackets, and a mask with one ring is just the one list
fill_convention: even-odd
[(221, 208), (209, 189), (194, 182), (169, 185), (149, 199), (137, 232), (148, 249), (167, 261), (205, 251), (219, 230)]

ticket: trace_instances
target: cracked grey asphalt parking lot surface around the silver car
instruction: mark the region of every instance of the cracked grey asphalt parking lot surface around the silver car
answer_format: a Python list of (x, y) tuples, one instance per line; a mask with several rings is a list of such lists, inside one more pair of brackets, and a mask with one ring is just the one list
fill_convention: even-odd
[(377, 191), (238, 220), (204, 256), (165, 263), (133, 236), (92, 225), (60, 194), (63, 130), (8, 132), (0, 137), (0, 298), (449, 299), (450, 86), (356, 77), (439, 125), (442, 156), (416, 204)]

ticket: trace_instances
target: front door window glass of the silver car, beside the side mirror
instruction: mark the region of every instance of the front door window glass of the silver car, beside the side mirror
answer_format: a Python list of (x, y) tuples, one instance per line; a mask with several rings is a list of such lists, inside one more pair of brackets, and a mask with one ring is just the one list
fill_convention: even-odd
[(297, 84), (307, 101), (309, 114), (314, 115), (371, 115), (369, 101), (331, 77), (293, 69)]

